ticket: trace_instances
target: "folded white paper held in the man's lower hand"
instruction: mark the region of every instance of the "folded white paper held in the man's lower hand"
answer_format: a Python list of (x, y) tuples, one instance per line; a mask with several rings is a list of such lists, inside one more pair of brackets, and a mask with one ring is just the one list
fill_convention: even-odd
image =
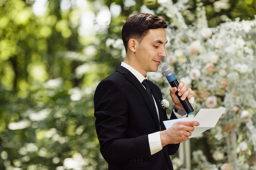
[[(198, 112), (198, 114), (195, 115), (193, 120), (199, 122), (199, 126), (194, 126), (194, 131), (192, 132), (192, 135), (189, 138), (192, 137), (198, 137), (201, 135), (204, 131), (214, 128), (220, 119), (220, 116), (225, 112), (226, 108), (201, 108)], [(184, 117), (180, 119), (172, 119), (172, 120), (166, 120), (164, 122), (164, 126), (166, 129), (170, 128), (175, 124), (177, 121), (188, 121), (190, 120), (189, 117)]]

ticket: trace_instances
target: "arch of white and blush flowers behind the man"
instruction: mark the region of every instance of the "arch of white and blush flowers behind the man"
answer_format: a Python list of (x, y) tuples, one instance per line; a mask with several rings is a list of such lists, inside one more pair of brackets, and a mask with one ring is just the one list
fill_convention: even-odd
[[(163, 1), (155, 13), (171, 21), (166, 29), (168, 56), (161, 65), (172, 66), (179, 81), (195, 91), (195, 113), (200, 108), (227, 110), (215, 128), (180, 146), (179, 155), (172, 158), (174, 167), (255, 170), (256, 20), (227, 19), (209, 28), (204, 7), (198, 2), (195, 21), (187, 25), (182, 15), (186, 8), (186, 1)], [(141, 12), (153, 13), (145, 6)], [(148, 76), (169, 99), (170, 86), (160, 68)]]

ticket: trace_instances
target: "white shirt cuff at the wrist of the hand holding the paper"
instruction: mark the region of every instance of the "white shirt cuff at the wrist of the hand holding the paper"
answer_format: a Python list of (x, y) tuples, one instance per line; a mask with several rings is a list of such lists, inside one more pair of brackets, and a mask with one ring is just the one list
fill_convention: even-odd
[(148, 143), (151, 155), (162, 150), (162, 143), (160, 138), (160, 132), (148, 134)]

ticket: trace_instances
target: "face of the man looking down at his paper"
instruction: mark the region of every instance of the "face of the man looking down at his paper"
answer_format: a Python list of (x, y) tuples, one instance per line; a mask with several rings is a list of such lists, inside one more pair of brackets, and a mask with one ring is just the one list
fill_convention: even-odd
[(165, 44), (167, 43), (164, 28), (150, 29), (148, 34), (136, 45), (135, 57), (137, 70), (146, 75), (147, 72), (157, 71), (162, 57), (166, 57)]

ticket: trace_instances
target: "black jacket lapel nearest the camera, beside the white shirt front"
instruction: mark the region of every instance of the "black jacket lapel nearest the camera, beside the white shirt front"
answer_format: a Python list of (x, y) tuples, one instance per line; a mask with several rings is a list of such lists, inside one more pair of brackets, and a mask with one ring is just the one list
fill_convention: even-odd
[[(124, 77), (126, 77), (139, 90), (139, 92), (143, 96), (143, 98), (144, 98), (144, 100), (145, 100), (145, 102), (146, 102), (146, 104), (147, 104), (147, 106), (150, 110), (150, 114), (152, 115), (152, 117), (155, 121), (155, 124), (159, 128), (159, 120), (158, 120), (158, 117), (157, 117), (157, 113), (155, 112), (155, 106), (153, 106), (151, 104), (152, 102), (151, 102), (150, 97), (148, 96), (148, 92), (146, 91), (146, 89), (142, 86), (142, 84), (139, 82), (139, 80), (130, 71), (128, 71), (123, 66), (118, 66), (117, 71), (119, 71), (121, 74), (124, 74)], [(154, 92), (152, 92), (152, 93), (154, 93)], [(155, 97), (154, 94), (153, 94), (153, 96)], [(158, 103), (157, 100), (156, 100), (156, 103)]]

